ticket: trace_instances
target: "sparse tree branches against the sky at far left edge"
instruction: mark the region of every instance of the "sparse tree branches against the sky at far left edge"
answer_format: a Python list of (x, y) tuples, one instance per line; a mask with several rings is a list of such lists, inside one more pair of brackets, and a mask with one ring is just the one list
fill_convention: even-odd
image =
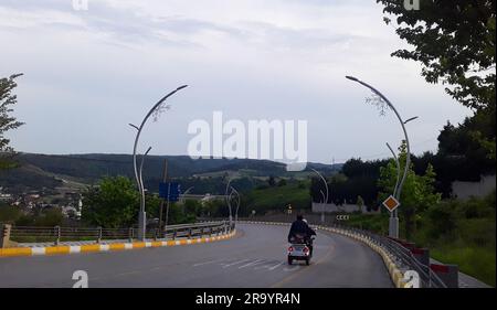
[(15, 78), (22, 74), (13, 74), (10, 77), (0, 78), (0, 169), (12, 168), (15, 162), (13, 148), (9, 146), (10, 139), (4, 133), (23, 125), (10, 114), (13, 111), (11, 106), (18, 103), (18, 97), (12, 90), (18, 86)]

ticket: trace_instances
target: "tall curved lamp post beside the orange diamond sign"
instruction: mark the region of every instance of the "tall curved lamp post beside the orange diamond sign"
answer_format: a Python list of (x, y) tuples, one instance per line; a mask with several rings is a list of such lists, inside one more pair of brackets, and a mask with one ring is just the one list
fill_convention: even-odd
[[(388, 105), (389, 108), (391, 108), (391, 109), (393, 110), (393, 113), (395, 114), (396, 118), (399, 119), (399, 122), (400, 122), (400, 125), (401, 125), (401, 127), (402, 127), (402, 131), (404, 132), (405, 145), (406, 145), (406, 148), (408, 148), (408, 150), (406, 150), (408, 153), (406, 153), (406, 157), (405, 157), (404, 173), (402, 174), (402, 178), (401, 178), (401, 180), (400, 180), (399, 186), (396, 188), (396, 192), (395, 192), (395, 194), (396, 194), (395, 199), (396, 199), (398, 201), (400, 201), (400, 195), (401, 195), (401, 192), (402, 192), (402, 186), (404, 185), (404, 181), (405, 181), (405, 178), (408, 177), (408, 172), (409, 172), (409, 167), (410, 167), (410, 164), (411, 164), (411, 148), (410, 148), (410, 143), (409, 143), (408, 131), (405, 130), (405, 126), (404, 126), (404, 125), (405, 125), (408, 121), (413, 120), (413, 119), (415, 119), (415, 118), (410, 118), (410, 119), (408, 119), (406, 121), (402, 120), (402, 117), (400, 116), (399, 111), (395, 109), (395, 107), (392, 105), (392, 103), (391, 103), (383, 94), (380, 93), (380, 90), (378, 90), (378, 89), (374, 88), (373, 86), (369, 85), (368, 83), (360, 81), (360, 79), (357, 78), (357, 77), (353, 77), (353, 76), (346, 76), (346, 78), (348, 78), (348, 79), (350, 79), (350, 81), (353, 81), (353, 82), (357, 82), (357, 83), (361, 84), (362, 86), (368, 87), (368, 88), (369, 88), (370, 90), (372, 90), (376, 95), (380, 96), (380, 98)], [(391, 213), (391, 216), (390, 216), (390, 222), (389, 222), (389, 236), (394, 237), (394, 238), (398, 238), (398, 237), (399, 237), (399, 216), (398, 216), (396, 210), (394, 210), (394, 211)]]

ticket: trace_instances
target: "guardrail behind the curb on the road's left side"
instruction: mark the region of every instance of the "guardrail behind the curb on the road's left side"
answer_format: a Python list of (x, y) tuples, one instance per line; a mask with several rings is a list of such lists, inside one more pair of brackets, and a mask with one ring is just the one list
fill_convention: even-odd
[[(53, 242), (59, 245), (63, 240), (102, 240), (136, 238), (137, 228), (102, 228), (102, 227), (42, 227), (42, 226), (13, 226), (0, 223), (2, 245), (9, 242)], [(146, 238), (176, 239), (193, 238), (204, 235), (219, 235), (230, 233), (234, 225), (228, 221), (203, 222), (194, 224), (168, 225), (165, 229), (148, 228)]]

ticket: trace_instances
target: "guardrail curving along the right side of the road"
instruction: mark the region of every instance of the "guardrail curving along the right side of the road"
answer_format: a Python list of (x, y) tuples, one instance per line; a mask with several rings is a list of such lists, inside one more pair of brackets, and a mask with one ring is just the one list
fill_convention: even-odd
[[(254, 222), (253, 218), (246, 218), (246, 222)], [(241, 220), (241, 222), (245, 222)], [(262, 223), (278, 223), (266, 221)], [(289, 223), (286, 223), (289, 224)], [(422, 288), (454, 288), (458, 286), (457, 266), (455, 265), (435, 265), (430, 263), (430, 252), (426, 248), (417, 248), (413, 243), (401, 239), (393, 239), (381, 236), (369, 231), (340, 225), (337, 223), (327, 223), (327, 225), (309, 223), (311, 226), (328, 227), (339, 231), (343, 235), (355, 235), (368, 239), (370, 243), (389, 253), (395, 266), (402, 271), (414, 270), (420, 276), (420, 287)]]

